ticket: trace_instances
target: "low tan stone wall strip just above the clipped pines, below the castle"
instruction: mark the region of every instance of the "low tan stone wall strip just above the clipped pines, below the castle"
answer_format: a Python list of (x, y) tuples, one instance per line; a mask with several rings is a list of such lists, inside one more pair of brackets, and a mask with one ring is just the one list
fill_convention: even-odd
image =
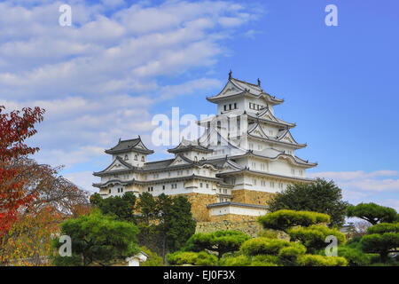
[(255, 220), (198, 222), (195, 233), (212, 233), (226, 230), (237, 230), (251, 237), (256, 237), (262, 231), (262, 225)]

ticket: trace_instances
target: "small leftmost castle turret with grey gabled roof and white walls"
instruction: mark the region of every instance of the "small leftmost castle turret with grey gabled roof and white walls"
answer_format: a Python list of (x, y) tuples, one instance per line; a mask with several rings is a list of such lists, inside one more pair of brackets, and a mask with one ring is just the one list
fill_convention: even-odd
[(153, 150), (148, 149), (138, 136), (138, 138), (129, 140), (121, 140), (120, 138), (116, 146), (106, 150), (106, 154), (112, 154), (113, 160), (120, 157), (132, 166), (142, 167), (147, 162), (147, 155), (153, 154)]

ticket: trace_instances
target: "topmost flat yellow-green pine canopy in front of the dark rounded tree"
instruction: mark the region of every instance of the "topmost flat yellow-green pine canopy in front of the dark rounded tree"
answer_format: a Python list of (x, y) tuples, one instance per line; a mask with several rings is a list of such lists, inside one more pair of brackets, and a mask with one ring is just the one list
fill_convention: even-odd
[(330, 217), (323, 213), (311, 211), (278, 210), (258, 217), (258, 222), (265, 229), (285, 231), (293, 226), (309, 226), (330, 222)]

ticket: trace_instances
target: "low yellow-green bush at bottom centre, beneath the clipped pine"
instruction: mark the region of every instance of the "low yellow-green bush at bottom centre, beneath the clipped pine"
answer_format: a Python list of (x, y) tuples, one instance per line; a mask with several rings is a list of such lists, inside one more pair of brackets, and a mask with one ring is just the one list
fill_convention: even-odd
[(217, 264), (217, 257), (209, 255), (205, 251), (177, 251), (166, 256), (169, 264), (192, 264), (201, 266), (214, 266)]

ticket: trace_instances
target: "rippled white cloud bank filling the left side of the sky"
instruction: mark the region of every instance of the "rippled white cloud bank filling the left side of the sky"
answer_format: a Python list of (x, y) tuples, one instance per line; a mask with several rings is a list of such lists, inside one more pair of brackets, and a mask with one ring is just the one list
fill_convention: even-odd
[[(198, 67), (212, 69), (229, 54), (224, 40), (259, 13), (228, 1), (150, 6), (71, 0), (72, 27), (60, 27), (61, 4), (0, 3), (0, 105), (45, 108), (29, 142), (41, 147), (39, 162), (64, 164), (69, 171), (104, 157), (104, 148), (118, 138), (140, 134), (151, 146), (152, 108), (221, 87), (207, 77), (212, 73), (176, 79)], [(67, 177), (82, 187), (93, 181), (86, 170)]]

